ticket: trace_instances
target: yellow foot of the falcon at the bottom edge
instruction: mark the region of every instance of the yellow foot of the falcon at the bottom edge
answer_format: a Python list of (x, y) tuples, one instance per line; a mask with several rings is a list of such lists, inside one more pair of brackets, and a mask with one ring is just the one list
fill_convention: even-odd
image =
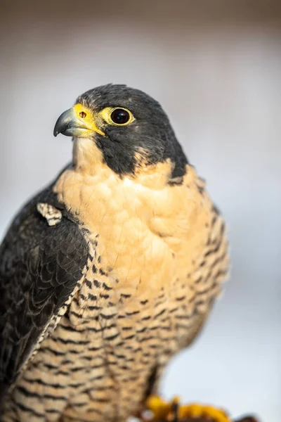
[(147, 422), (231, 422), (221, 409), (202, 404), (181, 405), (178, 397), (165, 402), (161, 397), (150, 396), (146, 406), (152, 414), (152, 418), (144, 416), (143, 421)]

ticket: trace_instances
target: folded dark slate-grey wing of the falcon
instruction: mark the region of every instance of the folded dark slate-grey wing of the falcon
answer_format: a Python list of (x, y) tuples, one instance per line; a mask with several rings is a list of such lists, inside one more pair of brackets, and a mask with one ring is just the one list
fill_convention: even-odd
[[(49, 226), (37, 211), (48, 203), (62, 212)], [(75, 219), (52, 186), (15, 218), (0, 247), (0, 402), (51, 317), (81, 279), (88, 247)]]

